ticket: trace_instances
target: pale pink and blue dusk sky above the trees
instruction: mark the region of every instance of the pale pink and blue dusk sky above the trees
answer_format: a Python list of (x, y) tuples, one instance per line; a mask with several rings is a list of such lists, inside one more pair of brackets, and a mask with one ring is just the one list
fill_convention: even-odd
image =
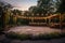
[(31, 5), (37, 5), (37, 0), (2, 0), (5, 1), (13, 6), (16, 6), (15, 9), (25, 11), (28, 10), (29, 6)]

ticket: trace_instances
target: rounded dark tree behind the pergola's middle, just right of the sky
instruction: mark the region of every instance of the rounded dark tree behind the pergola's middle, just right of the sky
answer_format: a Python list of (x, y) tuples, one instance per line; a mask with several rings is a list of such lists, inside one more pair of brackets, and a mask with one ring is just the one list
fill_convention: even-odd
[(30, 6), (29, 12), (34, 13), (35, 15), (39, 14), (39, 16), (46, 13), (46, 11), (39, 6)]

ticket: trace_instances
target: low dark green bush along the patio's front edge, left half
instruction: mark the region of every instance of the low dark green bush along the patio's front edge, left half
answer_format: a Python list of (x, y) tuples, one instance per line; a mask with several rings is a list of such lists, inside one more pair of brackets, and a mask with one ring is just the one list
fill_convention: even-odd
[(17, 34), (15, 32), (10, 32), (6, 33), (6, 37), (10, 39), (20, 39), (20, 40), (28, 40), (29, 39), (29, 34)]

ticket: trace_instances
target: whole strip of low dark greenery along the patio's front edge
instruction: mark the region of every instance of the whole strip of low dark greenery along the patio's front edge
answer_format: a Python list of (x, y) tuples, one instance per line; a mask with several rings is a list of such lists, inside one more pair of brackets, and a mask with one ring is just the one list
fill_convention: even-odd
[(17, 34), (15, 32), (10, 32), (6, 34), (8, 38), (10, 39), (18, 39), (18, 40), (51, 40), (51, 39), (60, 39), (60, 38), (65, 38), (65, 33), (58, 33), (58, 32), (53, 32), (53, 33), (47, 33), (47, 34), (38, 34), (38, 35), (32, 35), (32, 34)]

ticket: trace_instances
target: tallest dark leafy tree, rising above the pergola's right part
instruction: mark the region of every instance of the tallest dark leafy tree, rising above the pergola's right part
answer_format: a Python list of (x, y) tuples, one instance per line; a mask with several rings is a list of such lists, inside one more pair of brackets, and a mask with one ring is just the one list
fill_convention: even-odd
[(61, 0), (38, 0), (38, 6), (47, 13), (55, 13), (61, 4)]

